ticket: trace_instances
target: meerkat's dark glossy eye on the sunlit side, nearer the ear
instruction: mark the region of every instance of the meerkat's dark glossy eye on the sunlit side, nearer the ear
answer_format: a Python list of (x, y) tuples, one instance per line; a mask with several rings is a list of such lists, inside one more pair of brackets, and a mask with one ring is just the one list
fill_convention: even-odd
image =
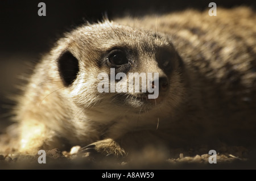
[(108, 61), (113, 65), (124, 65), (129, 61), (126, 57), (125, 52), (122, 50), (113, 50), (108, 56)]

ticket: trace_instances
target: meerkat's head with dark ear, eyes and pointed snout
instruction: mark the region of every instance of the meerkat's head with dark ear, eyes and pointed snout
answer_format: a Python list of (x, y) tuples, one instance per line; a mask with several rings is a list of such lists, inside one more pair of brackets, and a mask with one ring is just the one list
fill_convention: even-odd
[(68, 99), (101, 115), (179, 104), (183, 62), (168, 37), (109, 22), (68, 33), (55, 50)]

